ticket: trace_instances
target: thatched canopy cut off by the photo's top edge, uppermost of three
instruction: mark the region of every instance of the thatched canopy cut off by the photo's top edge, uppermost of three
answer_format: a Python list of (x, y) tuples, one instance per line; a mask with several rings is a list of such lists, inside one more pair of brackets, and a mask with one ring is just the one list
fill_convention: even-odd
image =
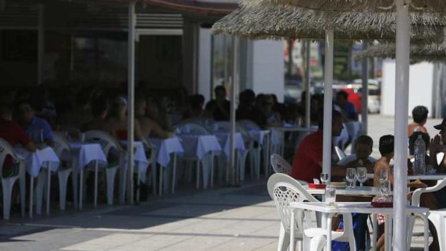
[[(294, 5), (323, 11), (394, 11), (394, 0), (264, 0), (271, 4)], [(254, 3), (253, 3), (254, 4)], [(411, 11), (446, 12), (446, 1), (411, 0)]]

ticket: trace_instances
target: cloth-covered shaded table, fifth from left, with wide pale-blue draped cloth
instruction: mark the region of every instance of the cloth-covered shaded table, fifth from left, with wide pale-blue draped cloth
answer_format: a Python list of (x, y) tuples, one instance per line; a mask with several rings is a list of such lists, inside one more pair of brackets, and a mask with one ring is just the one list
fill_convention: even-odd
[[(213, 187), (214, 156), (221, 152), (221, 146), (215, 135), (178, 134), (184, 149), (184, 156), (201, 161), (203, 166), (203, 188), (206, 189), (210, 175), (210, 186)], [(200, 168), (197, 162), (197, 168)], [(199, 177), (197, 177), (199, 178)], [(199, 182), (197, 182), (198, 189)]]

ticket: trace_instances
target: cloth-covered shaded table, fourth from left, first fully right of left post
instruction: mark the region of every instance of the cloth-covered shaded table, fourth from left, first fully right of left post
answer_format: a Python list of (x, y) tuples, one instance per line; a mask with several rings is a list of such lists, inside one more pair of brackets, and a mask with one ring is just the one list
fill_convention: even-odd
[[(159, 195), (163, 191), (163, 169), (169, 166), (171, 162), (170, 155), (173, 154), (172, 163), (172, 193), (175, 192), (175, 173), (176, 173), (176, 155), (183, 153), (184, 149), (181, 145), (181, 141), (177, 137), (172, 138), (147, 138), (147, 141), (155, 146), (157, 152), (157, 163), (161, 165), (160, 169), (160, 181), (159, 181)], [(155, 170), (155, 169), (154, 169)], [(167, 179), (167, 177), (166, 177)]]

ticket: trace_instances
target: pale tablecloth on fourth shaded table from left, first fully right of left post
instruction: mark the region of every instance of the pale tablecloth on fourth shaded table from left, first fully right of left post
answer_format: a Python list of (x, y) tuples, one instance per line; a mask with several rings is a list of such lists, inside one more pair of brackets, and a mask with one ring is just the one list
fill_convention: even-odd
[(169, 166), (170, 154), (183, 153), (183, 147), (181, 146), (180, 139), (173, 138), (148, 138), (148, 141), (155, 146), (158, 152), (157, 162), (162, 167)]

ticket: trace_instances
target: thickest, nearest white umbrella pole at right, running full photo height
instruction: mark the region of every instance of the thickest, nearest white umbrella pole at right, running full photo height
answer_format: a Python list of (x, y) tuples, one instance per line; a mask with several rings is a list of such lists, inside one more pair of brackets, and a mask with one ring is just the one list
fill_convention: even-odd
[(407, 194), (407, 123), (409, 98), (409, 51), (410, 25), (408, 6), (404, 0), (396, 0), (396, 81), (395, 81), (395, 168), (393, 197), (393, 247), (398, 251), (406, 250), (407, 232), (406, 206)]

